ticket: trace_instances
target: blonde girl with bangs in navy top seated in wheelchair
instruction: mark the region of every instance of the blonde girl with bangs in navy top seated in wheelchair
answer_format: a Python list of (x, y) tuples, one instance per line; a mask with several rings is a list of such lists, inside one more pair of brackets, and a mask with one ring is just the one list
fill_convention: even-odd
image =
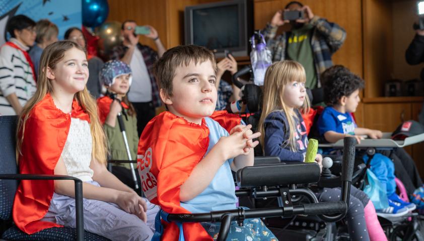
[[(260, 143), (265, 156), (278, 156), (281, 161), (304, 162), (308, 137), (299, 108), (308, 111), (305, 89), (306, 74), (296, 61), (279, 61), (268, 67), (263, 86), (263, 105), (259, 119)], [(321, 166), (322, 156), (315, 161)], [(301, 175), (301, 173), (299, 173)], [(320, 201), (340, 199), (340, 189), (324, 188), (317, 193)], [(345, 219), (352, 240), (384, 240), (377, 214), (370, 198), (354, 186), (350, 187), (350, 204)], [(376, 224), (377, 223), (377, 224)], [(370, 234), (368, 229), (379, 232)]]

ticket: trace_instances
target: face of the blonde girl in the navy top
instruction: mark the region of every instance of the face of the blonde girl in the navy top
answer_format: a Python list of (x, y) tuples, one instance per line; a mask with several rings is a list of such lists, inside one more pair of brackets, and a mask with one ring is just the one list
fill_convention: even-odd
[(284, 86), (282, 100), (290, 108), (298, 108), (305, 102), (305, 96), (305, 83), (292, 81)]

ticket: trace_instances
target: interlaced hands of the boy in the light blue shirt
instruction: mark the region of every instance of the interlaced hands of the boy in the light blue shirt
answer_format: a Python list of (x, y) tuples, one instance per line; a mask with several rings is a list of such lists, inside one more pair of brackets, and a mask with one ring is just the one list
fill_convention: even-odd
[(258, 138), (260, 133), (252, 133), (250, 130), (252, 125), (238, 125), (230, 131), (230, 136), (221, 137), (218, 141), (218, 148), (221, 148), (224, 154), (224, 160), (237, 157), (239, 155), (247, 155), (250, 149), (256, 147), (259, 142), (253, 142), (252, 139)]

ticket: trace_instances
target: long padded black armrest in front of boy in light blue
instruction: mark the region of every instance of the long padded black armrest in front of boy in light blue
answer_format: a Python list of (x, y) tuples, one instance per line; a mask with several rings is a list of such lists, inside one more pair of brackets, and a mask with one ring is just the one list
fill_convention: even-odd
[(321, 170), (317, 163), (270, 164), (245, 167), (237, 171), (239, 187), (316, 183)]

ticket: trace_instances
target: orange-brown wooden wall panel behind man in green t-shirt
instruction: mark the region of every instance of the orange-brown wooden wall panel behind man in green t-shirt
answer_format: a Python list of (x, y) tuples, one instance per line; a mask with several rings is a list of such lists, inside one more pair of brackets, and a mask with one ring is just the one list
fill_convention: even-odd
[[(290, 0), (255, 0), (255, 29), (264, 28), (266, 23), (271, 21), (275, 12), (284, 8), (289, 2)], [(346, 30), (346, 41), (333, 55), (332, 60), (334, 64), (344, 65), (352, 72), (363, 76), (362, 1), (303, 0), (301, 2), (308, 5), (315, 15), (337, 23)]]

